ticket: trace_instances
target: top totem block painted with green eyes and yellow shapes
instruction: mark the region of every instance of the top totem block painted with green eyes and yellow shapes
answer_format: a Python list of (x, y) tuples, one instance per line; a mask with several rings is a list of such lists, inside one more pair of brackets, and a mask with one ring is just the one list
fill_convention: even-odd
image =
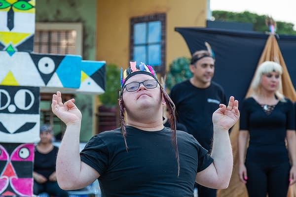
[(0, 0), (0, 50), (33, 51), (35, 0)]

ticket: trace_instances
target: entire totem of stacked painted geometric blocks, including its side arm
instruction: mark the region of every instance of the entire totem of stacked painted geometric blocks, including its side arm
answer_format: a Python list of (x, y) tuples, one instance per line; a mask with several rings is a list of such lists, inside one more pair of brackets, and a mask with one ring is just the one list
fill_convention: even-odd
[(40, 91), (103, 94), (105, 90), (104, 61), (32, 53), (35, 2), (0, 0), (0, 197), (33, 195)]

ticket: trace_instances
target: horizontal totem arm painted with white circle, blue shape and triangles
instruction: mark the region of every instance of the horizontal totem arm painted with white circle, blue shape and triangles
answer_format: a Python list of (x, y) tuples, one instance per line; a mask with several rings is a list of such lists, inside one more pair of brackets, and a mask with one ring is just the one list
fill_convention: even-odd
[(0, 60), (0, 85), (42, 87), (41, 92), (51, 93), (61, 88), (86, 94), (105, 90), (105, 61), (81, 61), (77, 55), (9, 55), (7, 51), (0, 51)]

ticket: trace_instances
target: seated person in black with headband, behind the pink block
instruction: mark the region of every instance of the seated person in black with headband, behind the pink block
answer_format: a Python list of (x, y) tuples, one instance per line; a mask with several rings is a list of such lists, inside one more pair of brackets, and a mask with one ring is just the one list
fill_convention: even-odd
[(58, 147), (53, 146), (53, 131), (49, 125), (40, 128), (40, 141), (35, 147), (34, 161), (34, 194), (46, 192), (57, 197), (68, 197), (68, 192), (62, 190), (56, 178), (56, 157)]

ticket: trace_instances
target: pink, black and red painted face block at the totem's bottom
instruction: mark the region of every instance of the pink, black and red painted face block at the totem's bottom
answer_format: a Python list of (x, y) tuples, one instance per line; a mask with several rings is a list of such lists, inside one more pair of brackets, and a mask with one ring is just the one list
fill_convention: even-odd
[(0, 196), (32, 197), (34, 144), (0, 144)]

